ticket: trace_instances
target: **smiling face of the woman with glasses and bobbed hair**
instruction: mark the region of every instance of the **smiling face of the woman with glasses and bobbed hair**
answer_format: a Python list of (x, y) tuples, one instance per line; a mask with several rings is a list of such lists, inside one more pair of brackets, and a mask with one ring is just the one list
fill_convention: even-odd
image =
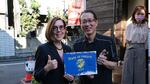
[(62, 20), (57, 20), (52, 28), (54, 40), (61, 41), (65, 37), (66, 28)]

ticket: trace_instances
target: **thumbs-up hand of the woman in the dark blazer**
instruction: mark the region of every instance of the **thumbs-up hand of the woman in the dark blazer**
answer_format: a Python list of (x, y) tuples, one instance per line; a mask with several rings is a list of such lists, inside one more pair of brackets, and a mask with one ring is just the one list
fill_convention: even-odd
[(50, 70), (53, 70), (53, 69), (56, 69), (58, 67), (58, 62), (56, 59), (51, 59), (51, 56), (48, 55), (48, 60), (47, 60), (47, 64), (45, 65), (44, 67), (44, 70), (45, 71), (50, 71)]

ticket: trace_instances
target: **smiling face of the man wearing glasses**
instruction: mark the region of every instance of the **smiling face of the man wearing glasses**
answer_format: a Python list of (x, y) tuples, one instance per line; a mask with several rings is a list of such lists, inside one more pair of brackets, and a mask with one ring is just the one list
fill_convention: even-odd
[(90, 12), (83, 13), (80, 17), (81, 29), (86, 35), (92, 35), (96, 33), (96, 27), (98, 21), (94, 18)]

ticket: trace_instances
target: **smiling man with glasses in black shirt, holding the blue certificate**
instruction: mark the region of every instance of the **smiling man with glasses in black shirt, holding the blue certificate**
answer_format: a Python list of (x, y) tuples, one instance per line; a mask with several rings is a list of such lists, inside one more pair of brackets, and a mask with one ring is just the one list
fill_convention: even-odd
[(77, 40), (74, 50), (96, 51), (98, 63), (98, 74), (80, 76), (80, 84), (112, 84), (112, 69), (117, 66), (118, 60), (113, 39), (96, 33), (98, 20), (93, 11), (83, 11), (80, 22), (85, 37)]

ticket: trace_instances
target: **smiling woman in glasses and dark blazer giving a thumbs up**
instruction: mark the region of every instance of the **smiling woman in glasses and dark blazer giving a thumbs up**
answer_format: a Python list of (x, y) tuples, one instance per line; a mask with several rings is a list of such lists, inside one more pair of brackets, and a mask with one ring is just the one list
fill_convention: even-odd
[(61, 42), (66, 37), (65, 21), (54, 17), (48, 22), (45, 36), (47, 43), (38, 47), (34, 77), (41, 84), (68, 84), (74, 79), (64, 75), (63, 53), (71, 48)]

